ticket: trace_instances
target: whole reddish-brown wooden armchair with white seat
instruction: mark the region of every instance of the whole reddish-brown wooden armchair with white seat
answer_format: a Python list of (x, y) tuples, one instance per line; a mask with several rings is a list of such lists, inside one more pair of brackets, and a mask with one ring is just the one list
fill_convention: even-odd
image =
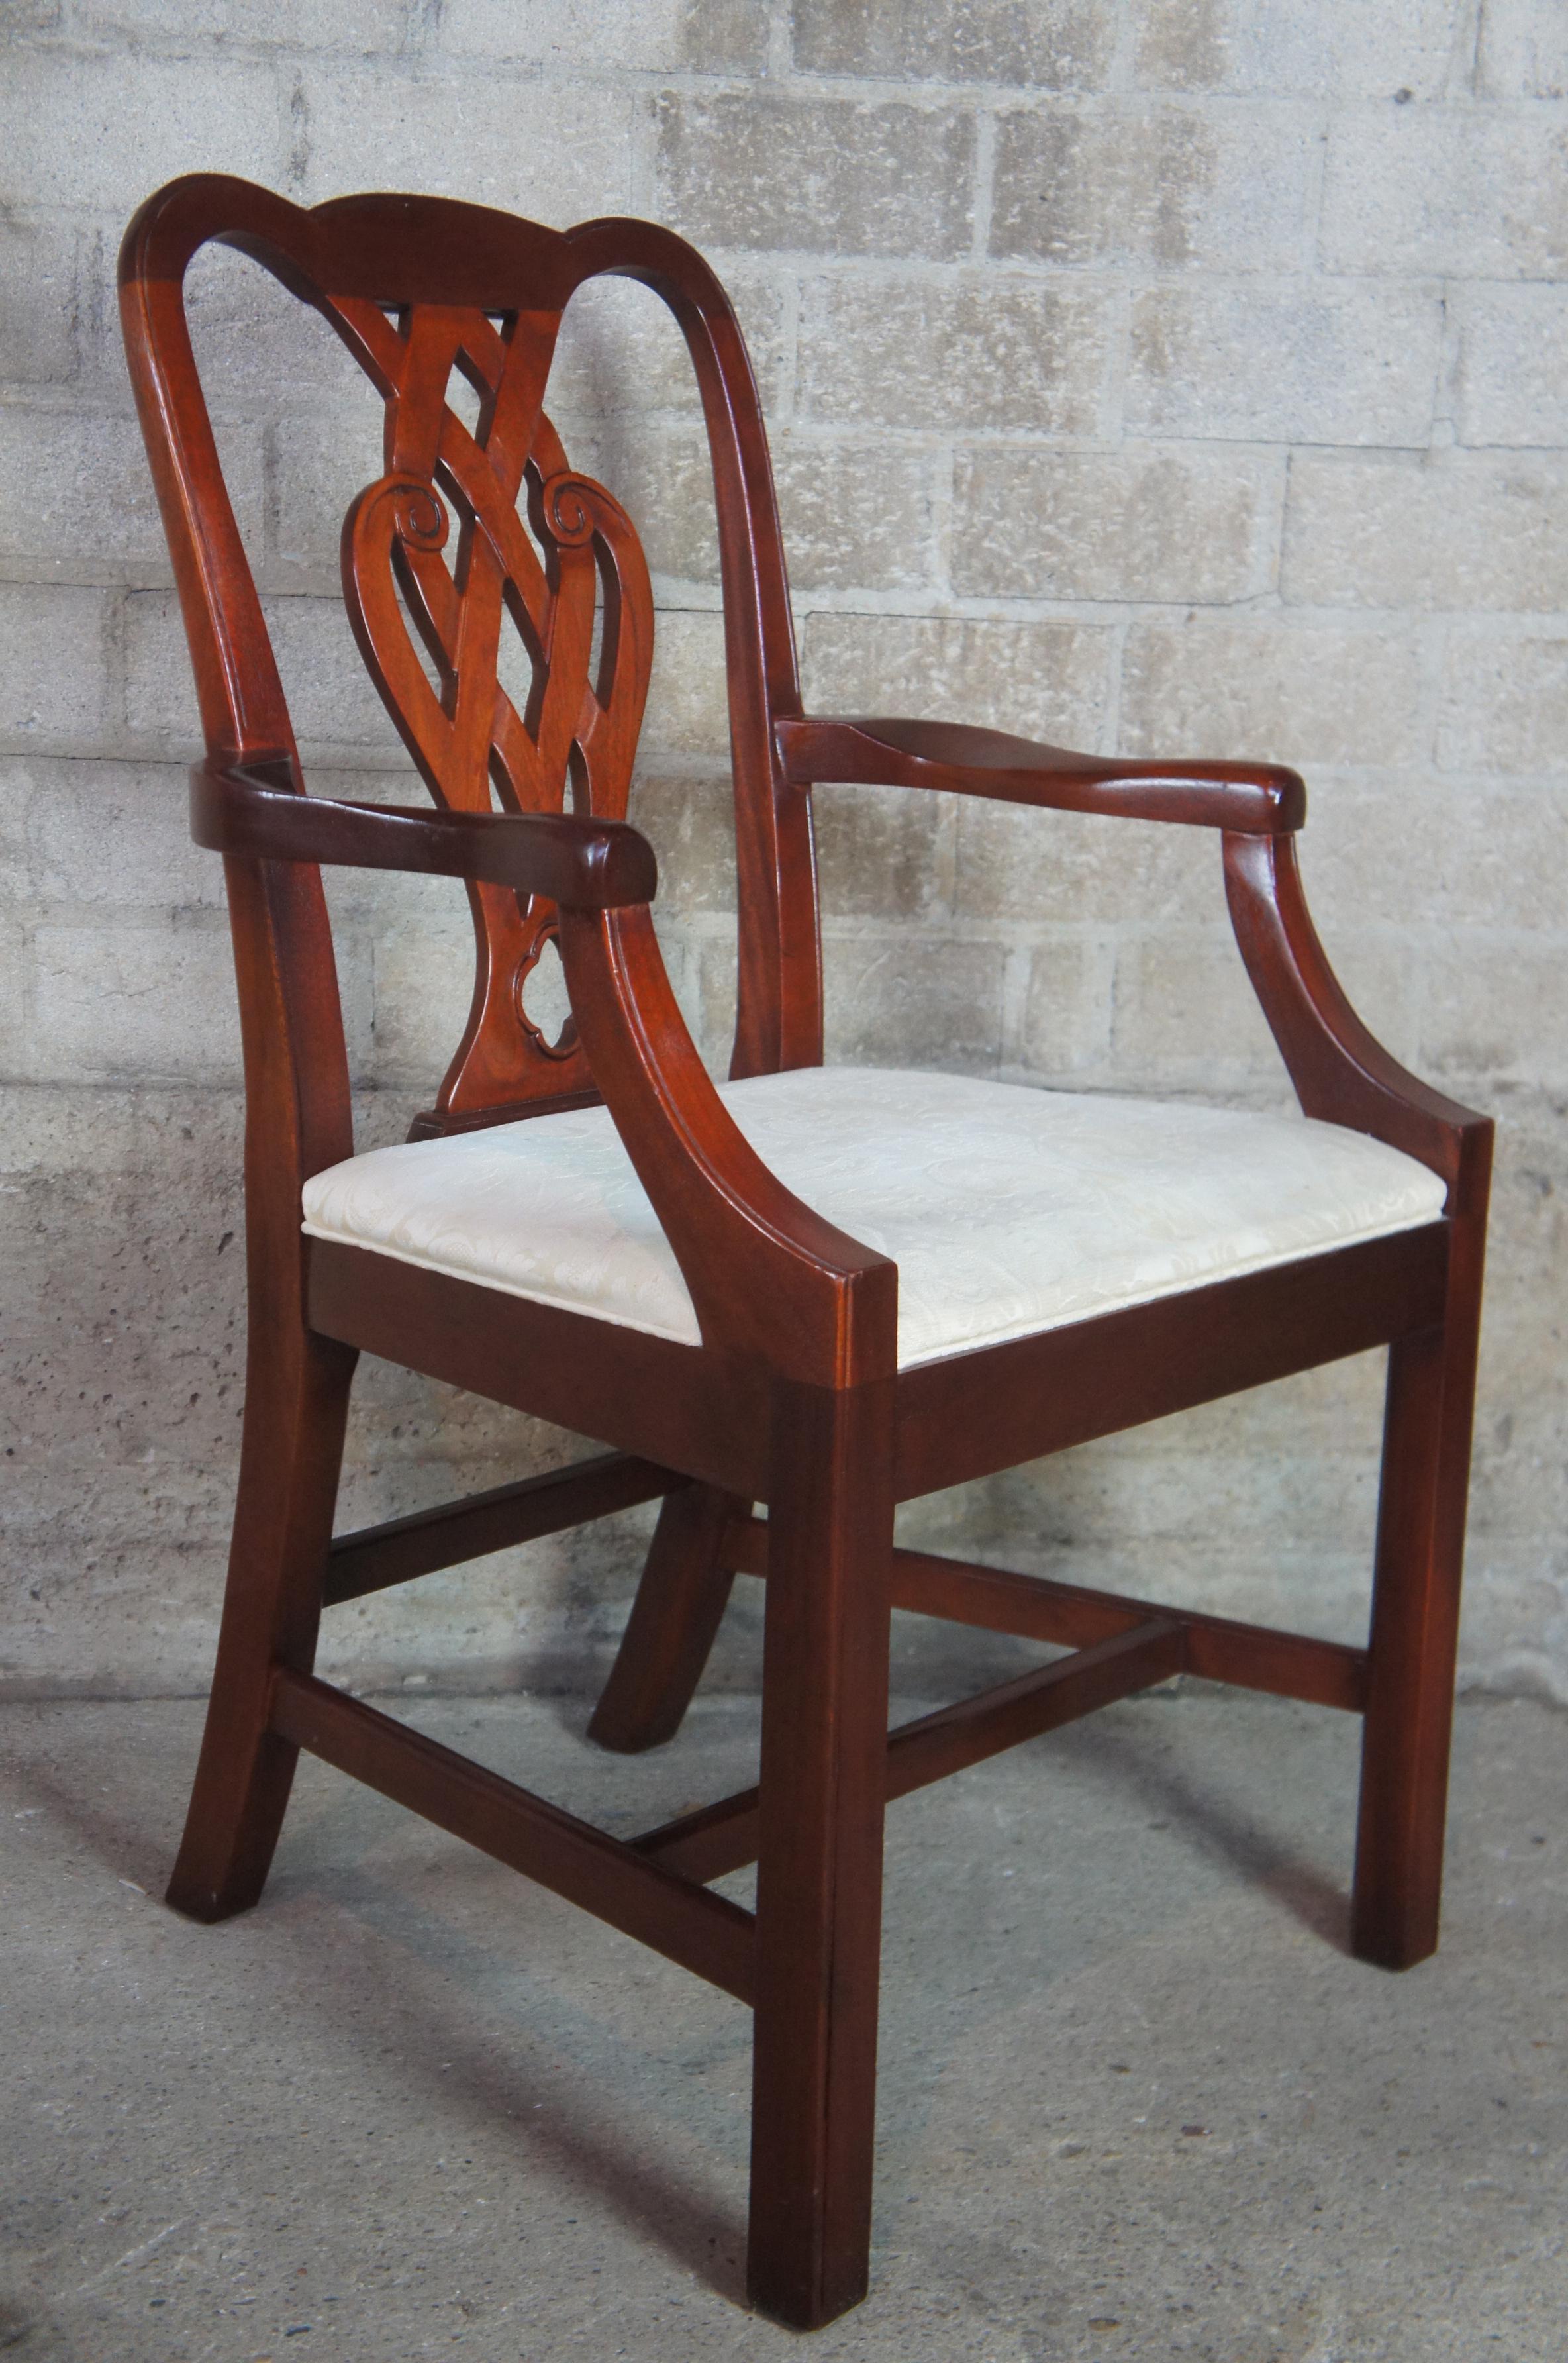
[[(314, 305), (385, 404), (342, 586), (430, 813), (305, 794), (184, 321), (208, 239)], [(654, 855), (626, 822), (647, 569), (541, 409), (562, 310), (602, 272), (671, 305), (713, 454), (741, 917), (730, 1085), (675, 1007)], [(257, 1900), (309, 1749), (749, 2001), (749, 2287), (784, 2323), (827, 2323), (867, 2287), (888, 1798), (1178, 1671), (1348, 1708), (1353, 1947), (1386, 1968), (1433, 1949), (1492, 1127), (1346, 1004), (1301, 898), (1292, 770), (801, 711), (751, 366), (668, 229), (557, 234), (423, 196), (302, 213), (194, 175), (137, 213), (120, 291), (248, 1092), (239, 1508), (170, 1902), (217, 1921)], [(475, 430), (446, 402), (453, 371)], [(510, 629), (534, 662), (527, 711), (498, 685)], [(824, 1070), (812, 782), (857, 780), (1216, 829), (1306, 1120)], [(475, 914), (475, 1000), (437, 1104), (364, 1158), (321, 862), (463, 879)], [(557, 1042), (520, 992), (550, 938), (574, 1011)], [(1370, 1347), (1389, 1347), (1389, 1408), (1365, 1649), (893, 1548), (897, 1501)], [(335, 1538), (359, 1352), (609, 1453)], [(619, 1843), (314, 1678), (324, 1607), (649, 1498), (593, 1737), (668, 1739), (732, 1574), (765, 1574), (758, 1789)], [(1070, 1654), (888, 1737), (890, 1607)], [(706, 1886), (751, 1860), (756, 1914)]]

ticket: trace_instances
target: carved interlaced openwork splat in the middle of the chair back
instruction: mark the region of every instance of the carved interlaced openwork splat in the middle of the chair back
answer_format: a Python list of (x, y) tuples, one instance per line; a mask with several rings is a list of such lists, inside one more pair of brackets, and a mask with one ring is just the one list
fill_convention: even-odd
[[(333, 302), (385, 395), (385, 475), (342, 522), (354, 638), (420, 777), (456, 811), (626, 818), (652, 664), (652, 593), (631, 517), (567, 468), (541, 395), (555, 319), (413, 305), (392, 326), (368, 302)], [(460, 371), (477, 428), (446, 399)], [(520, 496), (527, 489), (524, 527)], [(531, 529), (531, 532), (529, 532)], [(595, 662), (595, 612), (600, 647)], [(501, 685), (503, 633), (527, 652), (520, 714)], [(463, 1042), (416, 1132), (593, 1094), (567, 1021), (550, 1042), (524, 1007), (555, 938), (555, 905), (470, 886), (475, 1000)]]

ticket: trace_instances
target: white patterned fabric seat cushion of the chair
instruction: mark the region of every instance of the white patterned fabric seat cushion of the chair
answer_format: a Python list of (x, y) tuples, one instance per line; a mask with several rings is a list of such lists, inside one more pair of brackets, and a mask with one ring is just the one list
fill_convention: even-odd
[[(902, 1368), (1443, 1212), (1426, 1165), (1306, 1118), (845, 1066), (720, 1096), (786, 1189), (893, 1257)], [(347, 1158), (305, 1184), (305, 1229), (699, 1342), (607, 1108)]]

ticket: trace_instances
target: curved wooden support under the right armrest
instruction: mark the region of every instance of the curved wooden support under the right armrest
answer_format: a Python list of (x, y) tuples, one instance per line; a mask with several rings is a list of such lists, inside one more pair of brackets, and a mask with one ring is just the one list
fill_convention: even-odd
[(1233, 829), (1223, 844), (1235, 940), (1306, 1115), (1431, 1165), (1450, 1215), (1485, 1207), (1490, 1115), (1433, 1092), (1360, 1023), (1318, 940), (1294, 844)]

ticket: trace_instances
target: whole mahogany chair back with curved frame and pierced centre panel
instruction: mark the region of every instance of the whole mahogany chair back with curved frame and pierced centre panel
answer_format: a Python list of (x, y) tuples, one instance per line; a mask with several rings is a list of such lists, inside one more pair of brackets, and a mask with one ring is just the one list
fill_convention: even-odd
[[(385, 404), (385, 468), (342, 522), (342, 591), (425, 787), (458, 811), (569, 801), (626, 818), (652, 662), (647, 565), (626, 510), (574, 477), (543, 404), (562, 312), (583, 281), (640, 279), (671, 305), (701, 390), (720, 534), (739, 898), (732, 1073), (819, 1061), (810, 796), (786, 785), (772, 735), (777, 718), (801, 711), (784, 553), (756, 380), (713, 272), (652, 222), (555, 232), (432, 196), (302, 210), (201, 172), (142, 206), (120, 253), (120, 305), (208, 756), (283, 761), (300, 792), (184, 314), (184, 274), (208, 241), (241, 248), (312, 305)], [(453, 406), (453, 378), (477, 399), (472, 425), (463, 416), (472, 404)], [(503, 685), (515, 673), (503, 657), (510, 633), (531, 683), (522, 704)], [(290, 881), (286, 900), (290, 924), (279, 929), (276, 917), (257, 919), (255, 898), (231, 893), (236, 931), (262, 924), (272, 955), (293, 962), (293, 997), (319, 1009), (331, 985), (335, 1007), (319, 874)], [(574, 1026), (550, 1042), (524, 1007), (555, 907), (486, 884), (470, 900), (472, 1007), (416, 1132), (597, 1096)], [(241, 997), (246, 974), (241, 948)], [(340, 1018), (331, 1056), (345, 1066)]]

